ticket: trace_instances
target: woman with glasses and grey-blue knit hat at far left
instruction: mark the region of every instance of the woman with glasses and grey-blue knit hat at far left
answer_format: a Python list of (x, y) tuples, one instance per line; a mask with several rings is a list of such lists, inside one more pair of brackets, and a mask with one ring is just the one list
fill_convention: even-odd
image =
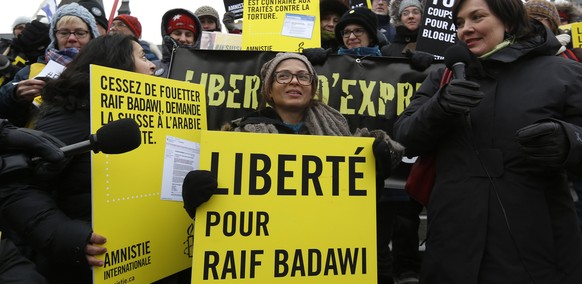
[(95, 18), (83, 6), (71, 3), (57, 9), (51, 20), (51, 43), (45, 55), (38, 58), (37, 63), (22, 68), (12, 82), (0, 88), (0, 117), (17, 126), (30, 125), (37, 110), (36, 105), (40, 104), (36, 98), (45, 86), (44, 80), (35, 79), (34, 76), (51, 60), (66, 66), (83, 46), (98, 36)]

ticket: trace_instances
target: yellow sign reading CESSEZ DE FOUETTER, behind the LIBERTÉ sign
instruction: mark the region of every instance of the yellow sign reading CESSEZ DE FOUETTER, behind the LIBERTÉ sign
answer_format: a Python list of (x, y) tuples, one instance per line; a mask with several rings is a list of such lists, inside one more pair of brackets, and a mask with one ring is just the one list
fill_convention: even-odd
[(197, 157), (180, 149), (207, 127), (203, 87), (93, 65), (91, 98), (93, 133), (132, 118), (142, 134), (131, 152), (92, 158), (93, 229), (107, 238), (93, 283), (151, 283), (188, 268), (193, 225), (181, 182)]

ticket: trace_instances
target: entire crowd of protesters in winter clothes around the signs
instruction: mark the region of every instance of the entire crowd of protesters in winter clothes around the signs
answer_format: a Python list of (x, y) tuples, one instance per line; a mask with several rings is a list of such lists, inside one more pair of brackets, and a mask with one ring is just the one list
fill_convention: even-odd
[[(314, 66), (331, 55), (373, 56), (425, 72), (437, 63), (416, 46), (426, 1), (319, 3), (321, 47), (266, 62), (258, 109), (222, 130), (374, 137), (379, 284), (582, 283), (582, 49), (562, 28), (581, 20), (582, 8), (455, 1), (464, 74), (428, 72), (387, 133), (350, 131), (319, 97)], [(137, 16), (109, 24), (98, 2), (81, 0), (58, 7), (50, 23), (16, 18), (13, 39), (0, 41), (0, 150), (47, 161), (31, 168), (0, 159), (0, 282), (91, 283), (91, 268), (103, 265), (107, 236), (91, 228), (90, 154), (59, 150), (90, 135), (89, 65), (168, 77), (175, 50), (200, 49), (203, 31), (243, 33), (232, 12), (221, 19), (211, 6), (171, 9), (160, 20), (158, 47), (141, 40)], [(37, 77), (49, 60), (66, 69)], [(411, 169), (403, 156), (434, 157), (426, 207), (398, 182)], [(184, 207), (194, 217), (217, 182), (207, 171), (188, 176), (196, 182), (184, 183)], [(189, 273), (158, 283), (190, 283)]]

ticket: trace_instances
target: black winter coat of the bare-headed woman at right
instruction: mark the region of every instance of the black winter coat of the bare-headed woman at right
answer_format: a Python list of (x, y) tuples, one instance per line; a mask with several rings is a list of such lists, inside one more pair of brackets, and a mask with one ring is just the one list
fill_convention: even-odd
[[(436, 156), (423, 283), (582, 283), (566, 181), (566, 169), (582, 172), (582, 64), (554, 56), (559, 43), (548, 31), (471, 64), (467, 79), (485, 98), (470, 115), (440, 107), (441, 69), (395, 124), (408, 155)], [(529, 162), (516, 141), (541, 119), (566, 130), (563, 168)]]

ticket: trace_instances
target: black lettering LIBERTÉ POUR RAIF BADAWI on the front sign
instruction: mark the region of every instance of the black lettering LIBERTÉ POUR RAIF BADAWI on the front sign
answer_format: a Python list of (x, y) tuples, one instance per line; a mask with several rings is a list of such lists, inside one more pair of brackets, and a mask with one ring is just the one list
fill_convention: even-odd
[[(370, 175), (361, 170), (369, 162), (361, 155), (362, 150), (363, 147), (356, 147), (354, 155), (348, 157), (262, 153), (221, 157), (220, 152), (212, 152), (211, 171), (217, 176), (231, 175), (227, 179), (233, 181), (230, 187), (221, 187), (215, 194), (367, 196), (368, 189), (358, 187), (358, 181)], [(221, 172), (221, 161), (234, 164), (233, 171)], [(291, 185), (297, 183), (298, 188)], [(347, 185), (347, 190), (342, 190), (341, 185)], [(272, 217), (267, 211), (208, 211), (204, 221), (206, 237), (271, 237)], [(260, 248), (204, 250), (203, 279), (254, 279), (263, 264), (272, 267), (274, 278), (362, 275), (368, 271), (367, 253), (364, 246), (277, 248), (270, 252)]]

